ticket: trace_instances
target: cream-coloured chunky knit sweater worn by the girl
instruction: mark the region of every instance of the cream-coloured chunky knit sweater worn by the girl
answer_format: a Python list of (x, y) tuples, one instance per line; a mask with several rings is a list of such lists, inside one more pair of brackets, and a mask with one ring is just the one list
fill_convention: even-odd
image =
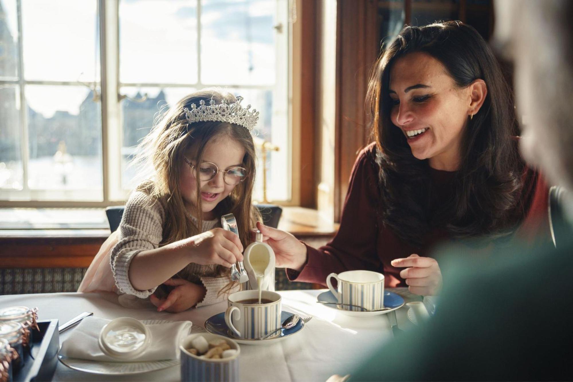
[[(119, 241), (111, 253), (111, 268), (117, 288), (121, 293), (147, 298), (154, 293), (155, 288), (149, 290), (136, 290), (129, 282), (129, 264), (131, 259), (141, 251), (152, 250), (159, 247), (163, 238), (163, 221), (165, 220), (165, 201), (158, 200), (150, 205), (148, 195), (141, 191), (131, 194), (121, 223), (119, 225)], [(203, 232), (213, 229), (217, 220), (203, 222)], [(229, 275), (215, 277), (215, 265), (203, 266), (191, 263), (191, 282), (201, 282), (207, 289), (207, 294), (199, 306), (211, 305), (226, 299), (226, 294), (219, 291), (231, 280)], [(238, 290), (239, 286), (237, 286)], [(236, 291), (236, 290), (232, 290)]]

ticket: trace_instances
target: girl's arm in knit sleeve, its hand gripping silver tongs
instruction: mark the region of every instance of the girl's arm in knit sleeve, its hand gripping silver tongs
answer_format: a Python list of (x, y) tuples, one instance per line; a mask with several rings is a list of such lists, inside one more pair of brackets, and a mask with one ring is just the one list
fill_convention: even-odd
[(116, 285), (123, 293), (146, 298), (187, 264), (221, 264), (242, 260), (242, 245), (234, 233), (215, 228), (159, 248), (164, 210), (135, 192), (125, 205), (120, 240), (111, 254)]

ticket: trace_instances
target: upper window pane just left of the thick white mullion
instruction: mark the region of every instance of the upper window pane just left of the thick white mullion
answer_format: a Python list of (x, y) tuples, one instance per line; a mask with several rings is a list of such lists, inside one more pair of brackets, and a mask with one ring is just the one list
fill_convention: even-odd
[(24, 78), (99, 81), (98, 31), (96, 0), (22, 0)]

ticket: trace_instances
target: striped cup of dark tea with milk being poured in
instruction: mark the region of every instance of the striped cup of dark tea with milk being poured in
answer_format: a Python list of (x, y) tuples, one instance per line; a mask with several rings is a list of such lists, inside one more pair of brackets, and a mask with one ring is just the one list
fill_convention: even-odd
[[(242, 303), (242, 301), (253, 299), (256, 299), (257, 302)], [(258, 290), (244, 290), (229, 295), (227, 298), (229, 307), (225, 311), (225, 323), (233, 336), (245, 340), (256, 340), (280, 328), (281, 295), (264, 290), (261, 299), (270, 302), (259, 304)], [(280, 336), (280, 331), (277, 331), (277, 334), (273, 336)]]

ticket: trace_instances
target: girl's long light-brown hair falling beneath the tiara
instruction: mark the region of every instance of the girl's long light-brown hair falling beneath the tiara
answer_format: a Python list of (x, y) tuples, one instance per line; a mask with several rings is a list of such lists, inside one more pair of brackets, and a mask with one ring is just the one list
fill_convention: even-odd
[[(201, 163), (203, 151), (209, 142), (219, 137), (229, 137), (245, 149), (242, 167), (248, 171), (248, 176), (233, 191), (215, 206), (215, 215), (220, 217), (233, 213), (237, 220), (239, 238), (244, 247), (252, 241), (250, 229), (255, 227), (260, 215), (251, 204), (253, 193), (256, 154), (253, 137), (243, 126), (227, 122), (194, 122), (188, 123), (183, 108), (191, 108), (191, 104), (199, 106), (204, 100), (208, 105), (210, 100), (221, 104), (225, 99), (227, 104), (237, 102), (234, 95), (218, 89), (202, 89), (181, 99), (174, 107), (163, 115), (159, 115), (150, 134), (144, 138), (142, 151), (136, 161), (152, 169), (147, 181), (140, 184), (137, 190), (147, 193), (150, 203), (164, 204), (165, 219), (163, 223), (163, 240), (160, 246), (198, 235), (202, 232), (203, 219), (201, 214), (201, 182), (197, 181), (197, 201), (193, 219), (187, 212), (183, 197), (179, 190), (179, 169), (187, 166), (183, 155), (192, 149), (194, 158), (188, 158), (195, 163)], [(191, 171), (191, 169), (189, 169)], [(220, 227), (220, 225), (219, 225)], [(178, 272), (179, 278), (189, 279), (191, 264)], [(229, 274), (229, 268), (217, 265), (218, 276)], [(228, 293), (236, 282), (230, 282), (219, 293)]]

